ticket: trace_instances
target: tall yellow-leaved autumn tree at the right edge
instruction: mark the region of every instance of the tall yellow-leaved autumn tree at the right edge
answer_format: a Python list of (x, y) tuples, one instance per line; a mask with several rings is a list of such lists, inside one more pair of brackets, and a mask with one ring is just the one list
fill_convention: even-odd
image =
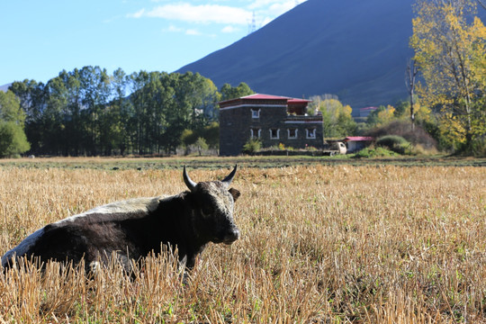
[(469, 146), (486, 132), (486, 27), (472, 0), (418, 0), (410, 46), (424, 85), (420, 102), (438, 110), (443, 132)]

